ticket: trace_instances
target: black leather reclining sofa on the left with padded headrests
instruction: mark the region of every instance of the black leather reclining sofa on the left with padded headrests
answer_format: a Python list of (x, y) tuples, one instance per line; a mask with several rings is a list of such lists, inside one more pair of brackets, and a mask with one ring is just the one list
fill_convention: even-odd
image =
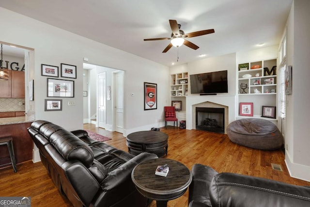
[(54, 184), (73, 206), (144, 207), (149, 202), (131, 172), (155, 154), (130, 155), (90, 139), (84, 130), (69, 132), (43, 120), (34, 121), (28, 132)]

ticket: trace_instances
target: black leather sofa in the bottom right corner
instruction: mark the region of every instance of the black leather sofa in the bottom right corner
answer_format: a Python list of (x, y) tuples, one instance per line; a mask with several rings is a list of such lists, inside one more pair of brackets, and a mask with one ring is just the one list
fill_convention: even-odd
[(308, 207), (310, 188), (195, 164), (189, 207)]

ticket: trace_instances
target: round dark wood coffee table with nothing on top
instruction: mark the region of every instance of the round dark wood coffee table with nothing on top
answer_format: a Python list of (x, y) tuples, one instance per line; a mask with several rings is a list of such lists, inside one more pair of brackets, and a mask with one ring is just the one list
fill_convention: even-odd
[(168, 154), (168, 135), (160, 131), (137, 131), (127, 135), (126, 145), (133, 155), (150, 152), (163, 157)]

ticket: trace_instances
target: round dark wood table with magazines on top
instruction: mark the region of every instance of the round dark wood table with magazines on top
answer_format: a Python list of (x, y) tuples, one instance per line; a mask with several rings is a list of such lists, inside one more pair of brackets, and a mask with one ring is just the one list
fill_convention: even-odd
[[(166, 177), (155, 175), (158, 165), (168, 164)], [(137, 190), (145, 197), (156, 200), (157, 207), (167, 207), (169, 200), (183, 195), (192, 181), (190, 170), (173, 159), (148, 159), (138, 164), (131, 173)]]

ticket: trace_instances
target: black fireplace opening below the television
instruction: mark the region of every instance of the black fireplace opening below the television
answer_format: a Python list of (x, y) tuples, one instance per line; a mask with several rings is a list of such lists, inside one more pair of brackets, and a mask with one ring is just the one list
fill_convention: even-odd
[(224, 108), (196, 107), (196, 129), (224, 134)]

